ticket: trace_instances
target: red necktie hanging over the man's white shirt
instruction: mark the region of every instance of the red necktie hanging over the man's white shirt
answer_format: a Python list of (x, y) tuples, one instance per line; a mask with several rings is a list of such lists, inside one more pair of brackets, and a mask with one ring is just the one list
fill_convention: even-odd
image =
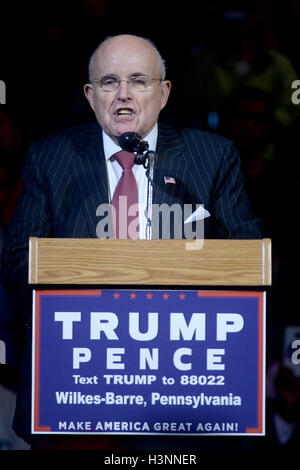
[[(114, 155), (123, 168), (123, 173), (116, 186), (112, 205), (115, 209), (113, 227), (116, 238), (138, 238), (138, 188), (132, 172), (134, 153), (122, 150)], [(132, 221), (135, 220), (135, 223)]]

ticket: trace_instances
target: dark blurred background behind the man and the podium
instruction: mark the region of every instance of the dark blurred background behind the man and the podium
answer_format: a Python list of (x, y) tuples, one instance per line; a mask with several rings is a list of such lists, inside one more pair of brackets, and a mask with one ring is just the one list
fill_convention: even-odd
[[(88, 60), (101, 40), (120, 33), (150, 38), (166, 60), (173, 88), (162, 119), (224, 135), (239, 148), (248, 194), (264, 220), (265, 236), (273, 240), (268, 427), (267, 436), (253, 438), (251, 446), (296, 447), (300, 365), (292, 366), (288, 346), (300, 337), (300, 105), (292, 102), (292, 83), (300, 79), (299, 1), (1, 5), (0, 80), (6, 104), (0, 105), (0, 235), (20, 194), (28, 143), (94, 120), (83, 95)], [(7, 344), (0, 386), (14, 397), (18, 338), (2, 290), (0, 302), (0, 340)], [(3, 448), (21, 445), (3, 438), (1, 412), (0, 448), (1, 442)]]

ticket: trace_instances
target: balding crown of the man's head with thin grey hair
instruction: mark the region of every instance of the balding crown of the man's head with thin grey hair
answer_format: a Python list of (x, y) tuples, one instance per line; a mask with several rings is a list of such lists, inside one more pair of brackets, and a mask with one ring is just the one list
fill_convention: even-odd
[[(109, 53), (110, 49), (115, 49), (117, 46), (124, 46), (126, 49), (127, 47), (132, 48), (136, 47), (137, 45), (140, 45), (141, 48), (144, 48), (145, 51), (149, 53), (149, 55), (153, 56), (155, 58), (155, 61), (157, 63), (157, 70), (159, 77), (162, 80), (165, 80), (166, 78), (166, 65), (165, 61), (161, 57), (158, 49), (155, 47), (152, 41), (150, 39), (142, 38), (140, 36), (135, 36), (132, 34), (120, 34), (117, 36), (109, 36), (108, 38), (104, 39), (96, 50), (93, 52), (93, 54), (90, 57), (89, 60), (89, 80), (92, 83), (93, 79), (95, 79), (95, 62), (96, 58), (101, 60), (101, 55), (104, 51), (107, 51)], [(97, 65), (96, 65), (97, 67)]]

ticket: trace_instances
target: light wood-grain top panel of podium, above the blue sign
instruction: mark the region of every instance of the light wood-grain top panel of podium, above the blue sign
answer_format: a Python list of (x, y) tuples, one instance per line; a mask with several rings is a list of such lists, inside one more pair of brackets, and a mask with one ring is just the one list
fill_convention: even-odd
[(29, 284), (271, 285), (270, 239), (197, 242), (31, 238)]

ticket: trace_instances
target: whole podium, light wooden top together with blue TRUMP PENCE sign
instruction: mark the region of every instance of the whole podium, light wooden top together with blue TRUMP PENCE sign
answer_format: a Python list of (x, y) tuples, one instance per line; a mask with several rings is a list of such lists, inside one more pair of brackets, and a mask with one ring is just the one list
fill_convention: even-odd
[(29, 284), (33, 433), (264, 435), (271, 240), (31, 238)]

